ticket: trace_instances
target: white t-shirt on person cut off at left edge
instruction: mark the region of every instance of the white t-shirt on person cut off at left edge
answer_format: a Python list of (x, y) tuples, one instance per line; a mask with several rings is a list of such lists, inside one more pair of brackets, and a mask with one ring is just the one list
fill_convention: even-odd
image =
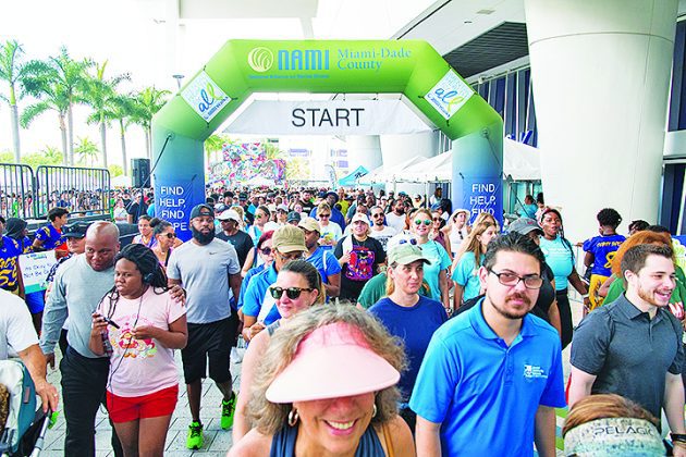
[(38, 344), (38, 336), (24, 300), (0, 288), (0, 360)]

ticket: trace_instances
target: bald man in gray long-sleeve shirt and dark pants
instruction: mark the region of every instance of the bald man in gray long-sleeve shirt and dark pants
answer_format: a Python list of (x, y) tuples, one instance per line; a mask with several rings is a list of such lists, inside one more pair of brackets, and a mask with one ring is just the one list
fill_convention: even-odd
[[(110, 360), (88, 348), (91, 314), (102, 296), (114, 285), (114, 256), (119, 252), (119, 228), (111, 222), (95, 222), (86, 232), (86, 251), (62, 264), (54, 277), (42, 314), (40, 349), (54, 368), (54, 346), (69, 314), (69, 346), (60, 362), (66, 434), (65, 456), (95, 455), (95, 418), (105, 404)], [(121, 445), (112, 428), (112, 447)]]

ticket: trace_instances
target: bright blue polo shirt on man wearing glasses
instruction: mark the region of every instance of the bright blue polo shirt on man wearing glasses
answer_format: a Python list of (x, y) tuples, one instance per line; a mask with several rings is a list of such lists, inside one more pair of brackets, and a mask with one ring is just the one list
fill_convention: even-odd
[(532, 456), (539, 405), (565, 406), (560, 336), (527, 314), (507, 347), (482, 305), (436, 331), (409, 407), (441, 423), (443, 455)]

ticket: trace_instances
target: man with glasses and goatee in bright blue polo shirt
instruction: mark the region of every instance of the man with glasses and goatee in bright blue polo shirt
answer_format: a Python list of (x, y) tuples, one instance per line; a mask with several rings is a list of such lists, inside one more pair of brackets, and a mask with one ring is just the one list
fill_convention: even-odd
[(409, 407), (418, 455), (555, 455), (555, 411), (565, 406), (558, 332), (529, 314), (543, 254), (528, 237), (492, 240), (481, 301), (431, 338)]

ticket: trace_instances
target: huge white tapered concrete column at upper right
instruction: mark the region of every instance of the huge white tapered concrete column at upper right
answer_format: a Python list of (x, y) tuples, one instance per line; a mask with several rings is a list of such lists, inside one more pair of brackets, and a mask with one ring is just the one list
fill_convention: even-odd
[(676, 0), (525, 0), (543, 193), (572, 242), (598, 233), (605, 207), (658, 220), (676, 11)]

